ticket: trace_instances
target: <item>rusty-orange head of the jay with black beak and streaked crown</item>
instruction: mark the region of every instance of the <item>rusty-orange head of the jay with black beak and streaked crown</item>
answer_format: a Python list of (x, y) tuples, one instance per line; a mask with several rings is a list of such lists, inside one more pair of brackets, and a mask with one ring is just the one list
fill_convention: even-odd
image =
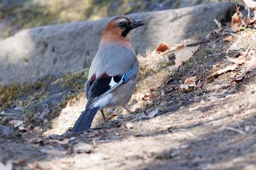
[(144, 20), (134, 20), (127, 16), (117, 17), (105, 27), (102, 38), (110, 41), (129, 41), (132, 30), (144, 24)]

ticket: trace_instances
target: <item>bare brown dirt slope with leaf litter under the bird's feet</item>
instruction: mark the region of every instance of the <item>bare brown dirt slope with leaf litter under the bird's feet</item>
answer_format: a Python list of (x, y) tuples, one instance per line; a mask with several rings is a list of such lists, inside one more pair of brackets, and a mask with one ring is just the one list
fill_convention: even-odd
[[(99, 115), (90, 131), (63, 134), (85, 104), (80, 97), (49, 120), (50, 128), (41, 123), (41, 130), (29, 131), (25, 121), (25, 130), (0, 137), (0, 169), (256, 169), (256, 72), (243, 72), (255, 51), (244, 42), (255, 32), (229, 32), (197, 36), (200, 47), (178, 69), (173, 51), (140, 56), (132, 115), (108, 109), (108, 123)], [(230, 50), (235, 46), (238, 51)], [(235, 69), (211, 76), (234, 62)]]

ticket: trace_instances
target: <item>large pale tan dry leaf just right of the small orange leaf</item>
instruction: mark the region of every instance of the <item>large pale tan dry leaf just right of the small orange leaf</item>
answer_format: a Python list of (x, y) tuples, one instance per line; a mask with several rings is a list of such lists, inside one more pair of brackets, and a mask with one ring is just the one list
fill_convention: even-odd
[(180, 46), (177, 47), (175, 50), (175, 66), (178, 68), (178, 66), (181, 66), (182, 62), (188, 61), (192, 55), (198, 50), (200, 45), (194, 46), (194, 47), (186, 47), (186, 46)]

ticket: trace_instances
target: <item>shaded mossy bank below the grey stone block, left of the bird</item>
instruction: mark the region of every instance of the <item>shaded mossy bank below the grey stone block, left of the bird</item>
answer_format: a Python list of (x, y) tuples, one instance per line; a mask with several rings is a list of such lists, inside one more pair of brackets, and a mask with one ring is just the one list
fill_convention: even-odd
[[(14, 117), (23, 117), (26, 124), (41, 125), (55, 118), (67, 102), (85, 93), (88, 70), (70, 71), (47, 75), (31, 82), (0, 87), (0, 112), (12, 112)], [(12, 115), (12, 119), (14, 119)], [(8, 124), (10, 117), (2, 120)]]

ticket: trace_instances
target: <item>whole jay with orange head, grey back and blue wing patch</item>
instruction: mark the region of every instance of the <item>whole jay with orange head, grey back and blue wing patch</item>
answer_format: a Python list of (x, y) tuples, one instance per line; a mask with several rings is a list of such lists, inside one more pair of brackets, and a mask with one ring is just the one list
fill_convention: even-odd
[(89, 69), (86, 109), (72, 132), (87, 131), (99, 109), (104, 119), (105, 107), (121, 106), (127, 109), (139, 74), (138, 58), (130, 39), (132, 30), (143, 25), (143, 20), (121, 16), (111, 20), (105, 27), (99, 50)]

